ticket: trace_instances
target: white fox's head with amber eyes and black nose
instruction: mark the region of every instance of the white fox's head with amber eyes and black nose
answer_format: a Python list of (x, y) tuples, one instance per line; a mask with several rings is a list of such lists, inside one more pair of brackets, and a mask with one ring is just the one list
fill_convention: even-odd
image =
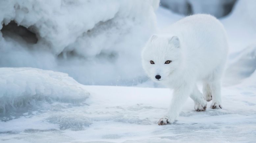
[(142, 50), (142, 66), (156, 82), (174, 75), (181, 64), (181, 45), (177, 36), (153, 35)]

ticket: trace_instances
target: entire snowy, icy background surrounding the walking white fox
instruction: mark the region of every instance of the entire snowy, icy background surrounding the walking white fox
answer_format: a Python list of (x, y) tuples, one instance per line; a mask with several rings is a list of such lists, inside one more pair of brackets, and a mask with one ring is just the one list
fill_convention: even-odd
[[(195, 13), (228, 34), (223, 109), (188, 99), (158, 126), (171, 91), (147, 78), (141, 48)], [(256, 140), (255, 0), (1, 0), (0, 21), (0, 142)]]

